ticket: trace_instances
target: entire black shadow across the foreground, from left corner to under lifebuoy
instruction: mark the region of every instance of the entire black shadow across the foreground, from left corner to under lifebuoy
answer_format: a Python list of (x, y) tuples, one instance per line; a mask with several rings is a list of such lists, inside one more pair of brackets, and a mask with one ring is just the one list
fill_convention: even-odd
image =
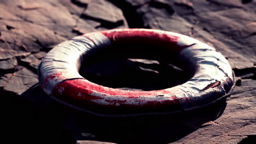
[(177, 141), (222, 115), (226, 103), (165, 116), (98, 117), (61, 105), (34, 85), (22, 95), (8, 96), (6, 134), (10, 143), (75, 143), (95, 140), (116, 143)]

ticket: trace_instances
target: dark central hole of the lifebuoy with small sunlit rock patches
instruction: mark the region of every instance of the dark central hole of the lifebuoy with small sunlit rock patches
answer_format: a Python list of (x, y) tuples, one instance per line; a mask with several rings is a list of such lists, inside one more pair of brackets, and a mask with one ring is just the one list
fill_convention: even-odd
[(115, 44), (85, 53), (79, 74), (98, 85), (153, 91), (181, 85), (193, 75), (182, 70), (178, 53), (152, 44)]

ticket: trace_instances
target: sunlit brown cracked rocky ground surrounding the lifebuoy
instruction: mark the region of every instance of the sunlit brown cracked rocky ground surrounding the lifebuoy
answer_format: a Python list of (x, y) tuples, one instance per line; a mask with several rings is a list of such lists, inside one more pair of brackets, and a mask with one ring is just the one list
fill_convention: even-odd
[[(255, 142), (255, 7), (253, 0), (1, 0), (0, 92), (4, 106), (1, 119), (6, 120), (3, 126), (7, 127), (2, 131), (9, 143), (75, 143), (75, 139), (81, 144)], [(216, 47), (235, 71), (235, 91), (226, 104), (216, 106), (220, 110), (215, 107), (218, 113), (214, 116), (201, 116), (203, 112), (214, 113), (213, 106), (197, 113), (198, 116), (177, 116), (183, 118), (175, 121), (172, 117), (153, 127), (148, 124), (154, 121), (133, 119), (136, 127), (112, 123), (115, 126), (110, 128), (107, 119), (105, 125), (98, 124), (99, 128), (95, 122), (100, 120), (92, 117), (90, 122), (95, 125), (87, 124), (90, 130), (80, 128), (78, 124), (89, 120), (76, 122), (74, 117), (83, 114), (77, 112), (74, 116), (73, 110), (47, 99), (38, 85), (32, 87), (38, 82), (37, 67), (56, 44), (83, 33), (112, 28), (172, 31)], [(159, 76), (155, 71), (166, 69), (157, 61), (127, 61), (130, 65), (152, 64), (152, 76)], [(146, 71), (150, 71), (148, 67)], [(184, 121), (187, 118), (192, 120)]]

